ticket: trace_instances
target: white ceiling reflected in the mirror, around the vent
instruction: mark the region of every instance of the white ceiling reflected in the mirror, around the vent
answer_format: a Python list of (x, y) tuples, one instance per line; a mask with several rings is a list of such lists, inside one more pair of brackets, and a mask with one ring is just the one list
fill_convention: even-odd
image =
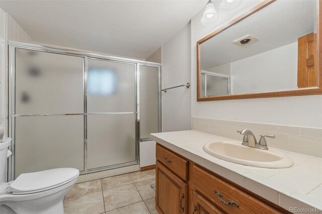
[[(314, 19), (316, 1), (276, 1), (202, 43), (201, 69), (206, 70), (297, 42), (299, 37), (314, 31)], [(258, 41), (245, 46), (233, 43), (247, 35), (256, 37)]]

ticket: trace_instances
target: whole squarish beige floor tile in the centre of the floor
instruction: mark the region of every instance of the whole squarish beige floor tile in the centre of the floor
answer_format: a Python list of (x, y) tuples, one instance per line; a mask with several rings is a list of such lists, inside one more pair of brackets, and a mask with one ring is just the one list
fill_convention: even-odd
[(126, 206), (142, 200), (134, 184), (127, 184), (111, 189), (105, 189), (103, 190), (103, 194), (106, 211)]

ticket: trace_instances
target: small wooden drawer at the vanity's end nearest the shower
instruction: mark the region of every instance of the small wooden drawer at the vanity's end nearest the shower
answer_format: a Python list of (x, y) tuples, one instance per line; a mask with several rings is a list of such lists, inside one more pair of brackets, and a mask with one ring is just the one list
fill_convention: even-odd
[(179, 177), (188, 180), (188, 161), (156, 144), (156, 160), (163, 163)]

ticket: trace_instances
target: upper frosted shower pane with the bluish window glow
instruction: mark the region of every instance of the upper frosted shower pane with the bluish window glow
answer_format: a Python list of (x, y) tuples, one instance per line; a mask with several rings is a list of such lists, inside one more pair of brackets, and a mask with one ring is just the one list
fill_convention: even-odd
[(135, 112), (135, 65), (88, 60), (88, 113)]

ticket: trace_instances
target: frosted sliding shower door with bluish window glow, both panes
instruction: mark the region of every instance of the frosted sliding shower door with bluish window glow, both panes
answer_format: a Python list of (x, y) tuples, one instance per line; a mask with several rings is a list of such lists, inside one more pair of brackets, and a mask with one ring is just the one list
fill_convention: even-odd
[(88, 169), (136, 160), (135, 64), (88, 59)]

